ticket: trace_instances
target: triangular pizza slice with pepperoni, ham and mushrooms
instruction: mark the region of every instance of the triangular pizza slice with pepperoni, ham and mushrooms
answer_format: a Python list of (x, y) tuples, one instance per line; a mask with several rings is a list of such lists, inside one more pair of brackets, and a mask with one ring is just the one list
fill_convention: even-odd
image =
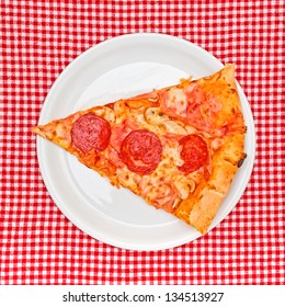
[(205, 234), (246, 154), (233, 65), (33, 132)]

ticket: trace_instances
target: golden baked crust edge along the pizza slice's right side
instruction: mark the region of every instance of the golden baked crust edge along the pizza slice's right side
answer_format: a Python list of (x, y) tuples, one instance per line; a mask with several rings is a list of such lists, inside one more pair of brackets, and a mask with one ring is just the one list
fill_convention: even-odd
[[(182, 203), (175, 212), (178, 217), (194, 226), (202, 234), (205, 234), (210, 226), (223, 200), (229, 192), (232, 179), (238, 167), (240, 167), (240, 161), (246, 158), (243, 152), (246, 126), (233, 78), (233, 69), (232, 65), (228, 65), (218, 73), (200, 80), (204, 89), (213, 93), (224, 104), (219, 113), (221, 120), (218, 123), (227, 122), (228, 124), (226, 135), (220, 138), (221, 145), (212, 157), (210, 178), (204, 184), (201, 184), (203, 187), (200, 189), (195, 197), (190, 197)], [(213, 84), (216, 84), (216, 88)], [(221, 92), (217, 84), (227, 90)], [(232, 118), (233, 115), (236, 121)]]

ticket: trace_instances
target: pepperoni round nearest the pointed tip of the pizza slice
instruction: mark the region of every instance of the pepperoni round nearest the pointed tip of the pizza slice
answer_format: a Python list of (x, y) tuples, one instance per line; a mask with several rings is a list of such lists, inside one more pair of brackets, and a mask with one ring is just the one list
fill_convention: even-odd
[(84, 154), (92, 148), (96, 151), (104, 150), (109, 145), (110, 137), (110, 123), (94, 113), (82, 115), (71, 128), (73, 144)]

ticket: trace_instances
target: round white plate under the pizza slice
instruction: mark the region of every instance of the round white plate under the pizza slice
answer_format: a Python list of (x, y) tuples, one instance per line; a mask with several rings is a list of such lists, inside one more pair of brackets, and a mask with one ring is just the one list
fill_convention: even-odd
[[(39, 124), (79, 109), (104, 104), (216, 72), (223, 67), (204, 49), (163, 34), (128, 34), (105, 41), (75, 59), (52, 87)], [(239, 94), (248, 126), (246, 159), (210, 229), (220, 223), (241, 197), (255, 152), (255, 134), (249, 103)], [(183, 221), (147, 205), (125, 189), (86, 168), (71, 155), (38, 137), (37, 155), (45, 184), (61, 212), (91, 237), (132, 250), (160, 250), (201, 236)]]

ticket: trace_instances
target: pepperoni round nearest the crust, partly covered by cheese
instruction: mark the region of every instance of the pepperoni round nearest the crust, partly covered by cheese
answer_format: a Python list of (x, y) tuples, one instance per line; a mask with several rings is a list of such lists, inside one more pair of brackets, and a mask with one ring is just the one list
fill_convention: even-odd
[(208, 158), (208, 148), (205, 140), (197, 135), (187, 135), (180, 141), (182, 145), (181, 158), (184, 163), (178, 169), (185, 173), (191, 173), (203, 167)]

